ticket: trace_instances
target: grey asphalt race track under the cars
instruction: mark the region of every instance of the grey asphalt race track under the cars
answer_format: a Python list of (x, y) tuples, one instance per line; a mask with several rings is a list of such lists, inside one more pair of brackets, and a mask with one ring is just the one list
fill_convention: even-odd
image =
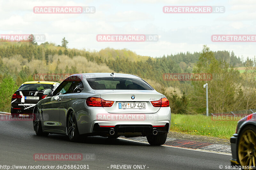
[[(73, 143), (62, 135), (50, 134), (48, 137), (40, 137), (36, 136), (32, 121), (1, 120), (0, 129), (1, 166), (88, 165), (89, 169), (94, 170), (114, 169), (113, 165), (131, 165), (131, 169), (134, 169), (135, 165), (136, 169), (148, 170), (205, 170), (220, 169), (220, 165), (225, 169), (225, 166), (230, 165), (231, 159), (231, 155), (151, 146), (120, 138), (87, 137), (79, 143)], [(36, 153), (82, 153), (93, 157), (81, 161), (35, 161), (33, 155)]]

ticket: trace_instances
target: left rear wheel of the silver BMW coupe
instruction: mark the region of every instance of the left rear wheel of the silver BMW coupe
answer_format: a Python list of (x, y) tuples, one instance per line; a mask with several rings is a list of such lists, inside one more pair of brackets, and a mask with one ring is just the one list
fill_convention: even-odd
[(79, 132), (76, 123), (76, 116), (73, 111), (68, 115), (68, 138), (71, 142), (77, 142), (79, 139)]

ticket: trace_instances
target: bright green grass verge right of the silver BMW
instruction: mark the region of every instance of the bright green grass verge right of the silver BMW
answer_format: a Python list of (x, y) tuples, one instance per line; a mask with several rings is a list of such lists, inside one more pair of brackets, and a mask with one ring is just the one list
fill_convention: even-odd
[(235, 133), (236, 125), (237, 121), (213, 121), (211, 116), (172, 114), (171, 130), (229, 139)]

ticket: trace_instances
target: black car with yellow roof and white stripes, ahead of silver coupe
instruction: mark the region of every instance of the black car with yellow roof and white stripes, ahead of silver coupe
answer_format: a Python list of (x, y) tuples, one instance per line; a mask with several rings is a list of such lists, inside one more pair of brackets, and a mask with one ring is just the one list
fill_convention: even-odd
[(28, 81), (23, 83), (19, 89), (12, 95), (11, 114), (28, 114), (33, 113), (34, 106), (39, 100), (44, 99), (44, 89), (52, 88), (55, 90), (60, 83), (50, 81)]

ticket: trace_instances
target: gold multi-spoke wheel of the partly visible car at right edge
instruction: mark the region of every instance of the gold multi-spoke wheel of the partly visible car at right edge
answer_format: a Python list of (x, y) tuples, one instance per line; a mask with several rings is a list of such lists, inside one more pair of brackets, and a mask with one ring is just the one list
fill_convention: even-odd
[[(256, 134), (247, 129), (242, 133), (238, 144), (238, 158), (242, 166), (256, 166)], [(245, 167), (244, 169), (250, 169)]]

